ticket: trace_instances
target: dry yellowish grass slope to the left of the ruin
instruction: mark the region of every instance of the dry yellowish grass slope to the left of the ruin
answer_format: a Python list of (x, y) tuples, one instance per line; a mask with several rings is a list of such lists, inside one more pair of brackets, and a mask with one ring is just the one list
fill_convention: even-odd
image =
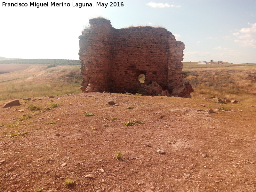
[(0, 100), (80, 93), (80, 83), (80, 66), (30, 66), (0, 75)]

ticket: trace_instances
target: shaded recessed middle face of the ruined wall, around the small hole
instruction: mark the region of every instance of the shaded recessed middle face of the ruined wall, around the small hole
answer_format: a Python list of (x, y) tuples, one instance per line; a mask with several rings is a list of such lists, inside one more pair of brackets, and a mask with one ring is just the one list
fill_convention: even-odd
[(113, 58), (110, 64), (113, 92), (138, 92), (139, 75), (145, 83), (156, 81), (167, 89), (167, 31), (151, 27), (116, 29), (113, 38)]

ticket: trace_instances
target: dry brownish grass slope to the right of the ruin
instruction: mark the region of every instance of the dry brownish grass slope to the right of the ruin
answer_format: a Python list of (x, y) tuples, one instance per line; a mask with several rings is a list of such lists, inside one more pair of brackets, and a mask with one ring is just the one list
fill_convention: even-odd
[(256, 73), (256, 66), (234, 68), (183, 70), (183, 76), (195, 90), (192, 98), (219, 97), (255, 103), (256, 80), (246, 74)]

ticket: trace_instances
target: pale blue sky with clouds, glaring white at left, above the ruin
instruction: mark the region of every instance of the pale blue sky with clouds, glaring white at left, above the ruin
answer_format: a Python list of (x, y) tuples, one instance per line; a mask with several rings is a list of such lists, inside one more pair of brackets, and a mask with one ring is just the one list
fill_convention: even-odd
[[(27, 3), (9, 7), (3, 3)], [(30, 3), (47, 6), (30, 6)], [(256, 0), (5, 0), (0, 4), (0, 56), (78, 60), (78, 36), (102, 16), (114, 28), (164, 26), (185, 44), (183, 61), (256, 63)], [(96, 6), (107, 4), (107, 6)], [(116, 2), (123, 6), (111, 7)], [(93, 7), (77, 7), (91, 3)]]

